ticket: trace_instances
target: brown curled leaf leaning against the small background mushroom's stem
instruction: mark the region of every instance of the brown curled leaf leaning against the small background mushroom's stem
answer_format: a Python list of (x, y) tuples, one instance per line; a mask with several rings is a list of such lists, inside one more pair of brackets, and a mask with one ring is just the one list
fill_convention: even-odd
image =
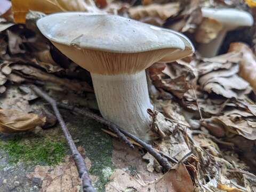
[(210, 43), (217, 37), (221, 29), (222, 25), (220, 22), (204, 18), (201, 25), (197, 28), (195, 39), (198, 43)]

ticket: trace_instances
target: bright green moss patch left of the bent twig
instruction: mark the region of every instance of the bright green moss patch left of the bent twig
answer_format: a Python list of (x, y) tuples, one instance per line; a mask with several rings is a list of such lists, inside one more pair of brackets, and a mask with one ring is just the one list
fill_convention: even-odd
[(26, 165), (58, 165), (66, 153), (64, 142), (49, 138), (29, 140), (26, 144), (22, 137), (14, 137), (3, 143), (3, 149), (8, 153), (10, 164), (24, 162)]

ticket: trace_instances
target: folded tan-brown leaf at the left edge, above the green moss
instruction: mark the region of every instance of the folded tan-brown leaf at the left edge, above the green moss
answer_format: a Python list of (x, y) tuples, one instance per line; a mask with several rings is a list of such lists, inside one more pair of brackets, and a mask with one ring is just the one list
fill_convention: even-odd
[(36, 114), (28, 114), (14, 109), (0, 109), (0, 132), (17, 133), (34, 129), (43, 125), (45, 118)]

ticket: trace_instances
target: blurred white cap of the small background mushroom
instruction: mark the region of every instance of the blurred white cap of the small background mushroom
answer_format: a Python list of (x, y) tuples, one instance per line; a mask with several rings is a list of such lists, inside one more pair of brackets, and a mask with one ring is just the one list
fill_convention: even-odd
[(253, 25), (252, 15), (237, 9), (202, 8), (203, 17), (215, 19), (223, 26), (245, 27)]

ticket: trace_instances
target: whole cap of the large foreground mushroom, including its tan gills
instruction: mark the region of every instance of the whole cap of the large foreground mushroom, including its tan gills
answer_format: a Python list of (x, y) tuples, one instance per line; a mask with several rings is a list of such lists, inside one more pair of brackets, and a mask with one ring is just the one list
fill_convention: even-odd
[(37, 26), (63, 54), (97, 74), (137, 73), (161, 59), (193, 52), (191, 42), (177, 32), (116, 15), (56, 13), (39, 19)]

